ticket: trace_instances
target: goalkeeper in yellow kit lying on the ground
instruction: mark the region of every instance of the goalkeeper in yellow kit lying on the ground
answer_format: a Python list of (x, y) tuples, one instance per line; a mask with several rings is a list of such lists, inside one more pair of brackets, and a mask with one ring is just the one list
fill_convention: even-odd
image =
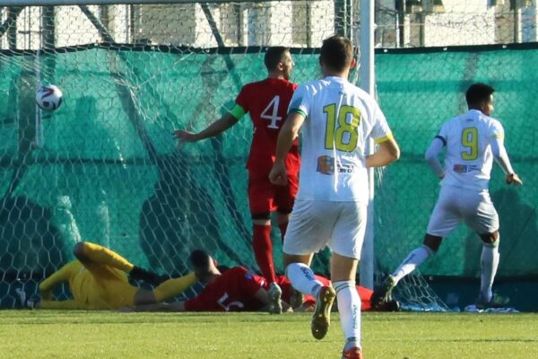
[[(23, 307), (117, 310), (122, 307), (166, 301), (198, 281), (195, 273), (163, 281), (162, 276), (134, 266), (126, 258), (99, 244), (78, 242), (74, 245), (73, 253), (76, 258), (74, 261), (67, 263), (41, 282), (40, 301), (28, 300), (26, 293), (22, 289), (17, 289)], [(157, 286), (150, 291), (130, 285), (127, 275)], [(52, 290), (63, 282), (69, 283), (73, 300), (55, 301)], [(159, 284), (160, 282), (162, 283)]]

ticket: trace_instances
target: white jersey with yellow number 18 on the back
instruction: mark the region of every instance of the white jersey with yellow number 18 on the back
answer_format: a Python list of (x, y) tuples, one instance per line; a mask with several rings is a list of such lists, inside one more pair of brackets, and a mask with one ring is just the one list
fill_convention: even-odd
[(392, 138), (373, 97), (341, 77), (325, 77), (300, 85), (289, 112), (306, 118), (297, 198), (368, 203), (365, 146), (369, 137)]

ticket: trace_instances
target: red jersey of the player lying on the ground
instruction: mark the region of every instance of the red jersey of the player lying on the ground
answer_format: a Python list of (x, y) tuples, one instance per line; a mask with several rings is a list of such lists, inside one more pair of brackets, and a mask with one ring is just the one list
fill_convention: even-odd
[(186, 311), (258, 311), (263, 303), (255, 297), (262, 285), (245, 267), (233, 267), (219, 276), (193, 299)]

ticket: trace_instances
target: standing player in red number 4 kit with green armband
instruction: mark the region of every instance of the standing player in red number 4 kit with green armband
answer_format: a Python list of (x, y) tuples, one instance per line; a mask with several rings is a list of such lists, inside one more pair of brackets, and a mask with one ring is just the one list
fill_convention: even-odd
[(268, 76), (256, 83), (247, 83), (239, 92), (236, 105), (229, 113), (198, 133), (184, 130), (175, 132), (181, 142), (196, 142), (213, 137), (238, 123), (246, 113), (254, 125), (252, 144), (248, 156), (248, 204), (253, 223), (253, 241), (256, 263), (270, 284), (273, 301), (272, 312), (280, 313), (282, 290), (276, 285), (273, 265), (273, 243), (271, 241), (271, 212), (276, 210), (282, 239), (293, 207), (299, 182), (299, 144), (297, 138), (286, 158), (288, 185), (274, 186), (269, 180), (269, 171), (274, 162), (274, 150), (282, 123), (284, 122), (291, 96), (297, 87), (290, 82), (291, 70), (295, 66), (290, 49), (273, 47), (265, 53)]

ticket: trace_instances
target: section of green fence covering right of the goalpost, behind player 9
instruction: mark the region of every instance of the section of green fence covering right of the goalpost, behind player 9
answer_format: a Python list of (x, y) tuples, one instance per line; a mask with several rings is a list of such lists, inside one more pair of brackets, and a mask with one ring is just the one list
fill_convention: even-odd
[[(430, 51), (379, 53), (377, 89), (381, 108), (402, 147), (402, 158), (389, 167), (376, 197), (377, 255), (393, 268), (405, 253), (421, 243), (438, 194), (438, 180), (423, 153), (441, 124), (466, 110), (464, 91), (476, 81), (496, 88), (493, 116), (505, 127), (505, 144), (522, 188), (508, 187), (495, 166), (490, 195), (500, 216), (498, 276), (536, 275), (533, 259), (538, 246), (536, 173), (538, 153), (534, 122), (533, 46), (437, 48)], [(444, 241), (436, 260), (421, 267), (423, 274), (479, 276), (482, 241), (460, 226)]]

